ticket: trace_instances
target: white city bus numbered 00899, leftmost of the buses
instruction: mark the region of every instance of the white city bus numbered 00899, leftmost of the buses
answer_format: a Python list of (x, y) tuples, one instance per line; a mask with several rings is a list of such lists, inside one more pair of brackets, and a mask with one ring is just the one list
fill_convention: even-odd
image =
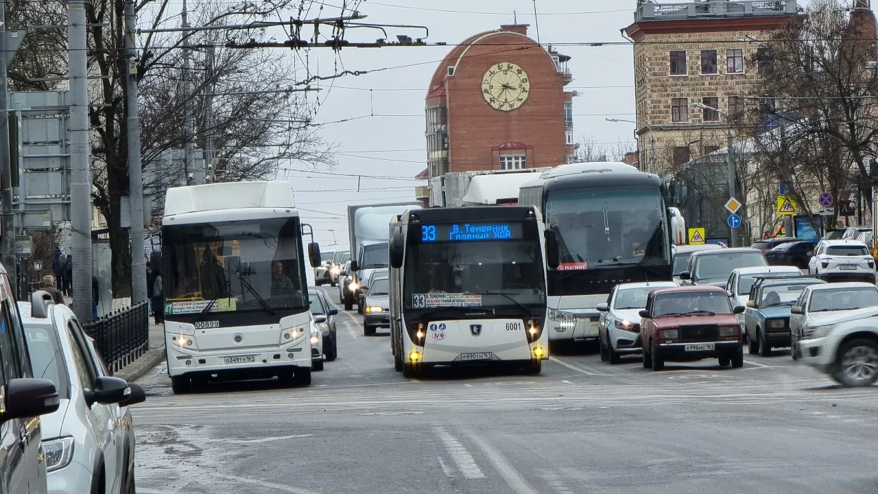
[[(311, 383), (302, 236), (288, 182), (168, 190), (157, 271), (175, 393), (208, 379)], [(308, 254), (320, 265), (316, 243)]]

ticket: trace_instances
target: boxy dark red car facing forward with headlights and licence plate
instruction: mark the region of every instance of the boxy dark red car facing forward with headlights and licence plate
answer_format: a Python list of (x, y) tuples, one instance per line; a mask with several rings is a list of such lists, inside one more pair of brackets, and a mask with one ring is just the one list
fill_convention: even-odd
[(644, 367), (661, 370), (666, 360), (702, 359), (718, 359), (721, 366), (743, 367), (744, 348), (736, 314), (744, 309), (732, 308), (728, 294), (720, 287), (653, 290), (646, 299), (646, 309), (640, 311)]

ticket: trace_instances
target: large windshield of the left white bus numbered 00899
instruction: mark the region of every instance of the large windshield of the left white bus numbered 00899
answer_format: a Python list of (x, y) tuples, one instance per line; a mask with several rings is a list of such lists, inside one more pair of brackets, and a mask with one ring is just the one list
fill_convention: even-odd
[(298, 218), (164, 227), (166, 314), (307, 309), (300, 245)]

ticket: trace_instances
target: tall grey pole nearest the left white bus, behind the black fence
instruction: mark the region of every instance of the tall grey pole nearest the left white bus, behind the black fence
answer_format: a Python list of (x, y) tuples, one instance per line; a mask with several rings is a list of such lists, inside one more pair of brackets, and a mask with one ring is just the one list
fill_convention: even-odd
[(134, 0), (125, 0), (125, 56), (126, 56), (126, 119), (128, 143), (128, 200), (131, 213), (131, 301), (147, 300), (147, 263), (143, 249), (143, 178), (140, 171), (140, 114), (138, 111), (137, 51), (134, 33), (137, 19)]

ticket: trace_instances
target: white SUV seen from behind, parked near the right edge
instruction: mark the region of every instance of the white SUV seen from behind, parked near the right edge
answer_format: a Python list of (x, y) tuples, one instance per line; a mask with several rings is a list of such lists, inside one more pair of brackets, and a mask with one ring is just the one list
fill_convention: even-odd
[(875, 262), (865, 243), (856, 240), (821, 240), (814, 248), (808, 273), (827, 281), (875, 282)]

